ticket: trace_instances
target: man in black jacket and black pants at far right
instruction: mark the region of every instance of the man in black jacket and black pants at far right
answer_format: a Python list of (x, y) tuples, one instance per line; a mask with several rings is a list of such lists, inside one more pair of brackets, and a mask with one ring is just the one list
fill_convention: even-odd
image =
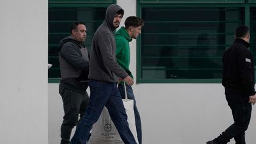
[(224, 144), (234, 138), (236, 144), (245, 144), (245, 131), (251, 119), (252, 104), (256, 103), (254, 89), (254, 59), (249, 52), (249, 28), (236, 28), (235, 41), (223, 55), (223, 79), (226, 100), (235, 121), (216, 139), (207, 144)]

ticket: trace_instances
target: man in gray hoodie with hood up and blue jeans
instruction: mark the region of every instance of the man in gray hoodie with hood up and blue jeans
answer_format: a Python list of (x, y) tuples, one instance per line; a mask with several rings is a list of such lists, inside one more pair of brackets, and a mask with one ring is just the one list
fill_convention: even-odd
[(96, 123), (104, 106), (107, 107), (123, 142), (136, 143), (129, 129), (126, 111), (117, 88), (118, 78), (123, 79), (127, 85), (133, 84), (133, 79), (116, 62), (114, 30), (119, 27), (123, 14), (124, 11), (119, 5), (110, 5), (103, 24), (98, 27), (92, 39), (88, 76), (91, 94), (87, 111), (72, 137), (72, 144), (86, 143), (92, 124)]

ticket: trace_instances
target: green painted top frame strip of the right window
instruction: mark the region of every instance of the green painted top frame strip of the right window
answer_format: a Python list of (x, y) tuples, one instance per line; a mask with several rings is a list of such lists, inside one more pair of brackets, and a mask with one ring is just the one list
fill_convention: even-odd
[(139, 0), (139, 2), (140, 4), (244, 4), (245, 0)]

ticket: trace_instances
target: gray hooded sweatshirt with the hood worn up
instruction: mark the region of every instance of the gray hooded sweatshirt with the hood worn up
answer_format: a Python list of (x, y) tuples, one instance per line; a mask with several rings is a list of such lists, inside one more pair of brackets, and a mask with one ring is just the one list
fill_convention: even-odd
[(107, 8), (105, 20), (98, 27), (91, 44), (89, 79), (105, 82), (117, 82), (117, 76), (126, 78), (128, 74), (116, 62), (116, 41), (114, 39), (114, 15), (121, 10), (113, 4)]

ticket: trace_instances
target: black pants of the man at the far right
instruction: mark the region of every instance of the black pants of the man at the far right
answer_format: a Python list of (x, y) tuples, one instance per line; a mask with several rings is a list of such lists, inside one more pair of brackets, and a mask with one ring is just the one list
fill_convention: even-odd
[(238, 94), (226, 94), (226, 100), (231, 107), (233, 120), (235, 121), (225, 132), (215, 139), (219, 144), (226, 144), (234, 138), (236, 144), (245, 144), (245, 131), (251, 119), (252, 105), (249, 97)]

